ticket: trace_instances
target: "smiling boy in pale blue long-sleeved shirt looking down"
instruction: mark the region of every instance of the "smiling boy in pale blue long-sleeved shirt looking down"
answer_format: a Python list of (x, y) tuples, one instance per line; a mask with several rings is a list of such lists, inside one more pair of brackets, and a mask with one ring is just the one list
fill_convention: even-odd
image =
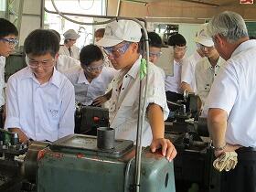
[(53, 142), (74, 133), (74, 87), (54, 68), (59, 38), (50, 30), (34, 30), (24, 51), (27, 68), (7, 82), (5, 129), (18, 133), (21, 142)]

